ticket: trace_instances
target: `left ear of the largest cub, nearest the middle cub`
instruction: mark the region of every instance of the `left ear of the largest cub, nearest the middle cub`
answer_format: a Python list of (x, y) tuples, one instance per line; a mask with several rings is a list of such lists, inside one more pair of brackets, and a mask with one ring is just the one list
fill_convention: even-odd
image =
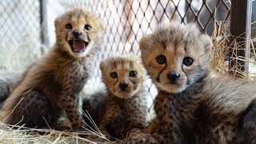
[(141, 51), (149, 50), (153, 45), (152, 34), (144, 35), (138, 42), (139, 49)]

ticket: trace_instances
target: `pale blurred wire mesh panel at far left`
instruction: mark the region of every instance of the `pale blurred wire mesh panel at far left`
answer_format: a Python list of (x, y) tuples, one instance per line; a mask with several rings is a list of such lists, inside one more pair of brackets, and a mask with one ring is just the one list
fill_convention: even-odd
[(0, 27), (0, 68), (23, 69), (40, 51), (39, 1), (0, 1)]

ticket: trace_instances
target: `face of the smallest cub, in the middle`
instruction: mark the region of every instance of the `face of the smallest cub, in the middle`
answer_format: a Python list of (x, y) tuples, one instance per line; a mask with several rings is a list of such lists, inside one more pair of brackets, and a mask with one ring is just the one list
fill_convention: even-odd
[(100, 64), (106, 87), (118, 98), (130, 98), (142, 87), (145, 70), (138, 57), (115, 57)]

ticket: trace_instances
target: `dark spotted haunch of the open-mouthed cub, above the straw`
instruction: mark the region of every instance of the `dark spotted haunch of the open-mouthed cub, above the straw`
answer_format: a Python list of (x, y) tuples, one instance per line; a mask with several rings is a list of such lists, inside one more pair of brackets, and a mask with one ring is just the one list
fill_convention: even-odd
[[(23, 94), (24, 97), (14, 110), (14, 116), (10, 124), (26, 124), (28, 127), (48, 128), (54, 126), (59, 117), (59, 112), (51, 106), (50, 102), (44, 97), (40, 90), (30, 90)], [(27, 102), (27, 100), (31, 102)], [(18, 102), (17, 102), (18, 103)], [(40, 107), (40, 110), (37, 109)]]

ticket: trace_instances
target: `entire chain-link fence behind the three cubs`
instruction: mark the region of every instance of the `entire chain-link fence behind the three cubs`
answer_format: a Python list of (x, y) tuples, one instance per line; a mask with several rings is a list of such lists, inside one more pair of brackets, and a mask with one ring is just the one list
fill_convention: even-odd
[[(44, 38), (46, 47), (54, 44), (54, 18), (76, 6), (85, 6), (106, 22), (102, 50), (98, 62), (95, 62), (95, 67), (98, 67), (102, 58), (114, 54), (139, 55), (138, 41), (142, 35), (152, 33), (164, 22), (198, 22), (202, 31), (212, 34), (215, 20), (218, 23), (230, 19), (230, 5), (229, 0), (2, 0), (0, 66), (24, 69), (23, 63), (27, 64), (34, 55), (41, 54), (40, 38)], [(43, 33), (40, 33), (40, 28), (43, 28)], [(16, 61), (22, 64), (16, 66)], [(98, 68), (94, 74), (87, 85), (89, 87), (100, 82)], [(150, 106), (156, 94), (150, 80), (148, 94), (151, 96)]]

